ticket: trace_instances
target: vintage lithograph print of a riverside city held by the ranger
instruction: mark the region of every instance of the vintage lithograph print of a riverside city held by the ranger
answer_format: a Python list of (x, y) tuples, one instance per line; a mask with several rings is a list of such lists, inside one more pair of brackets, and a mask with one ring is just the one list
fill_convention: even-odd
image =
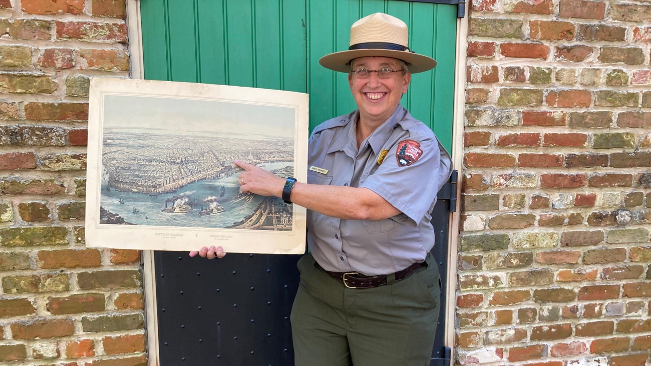
[(307, 106), (298, 92), (93, 79), (87, 246), (303, 253), (305, 208), (242, 193), (233, 162), (305, 182)]

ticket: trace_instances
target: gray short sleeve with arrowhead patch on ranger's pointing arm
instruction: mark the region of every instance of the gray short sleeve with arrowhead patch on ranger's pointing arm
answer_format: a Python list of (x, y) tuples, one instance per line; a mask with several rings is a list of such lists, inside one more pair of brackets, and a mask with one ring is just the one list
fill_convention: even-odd
[(360, 187), (378, 193), (419, 225), (436, 203), (451, 165), (434, 134), (405, 137), (389, 149), (380, 167)]

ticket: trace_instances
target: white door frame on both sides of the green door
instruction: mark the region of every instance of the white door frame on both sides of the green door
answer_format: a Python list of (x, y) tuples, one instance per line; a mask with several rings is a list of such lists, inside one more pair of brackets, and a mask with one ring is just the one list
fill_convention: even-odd
[[(140, 20), (140, 1), (126, 0), (126, 23), (130, 53), (130, 76), (132, 79), (144, 79), (143, 35)], [(452, 163), (459, 171), (459, 183), (456, 185), (457, 197), (460, 197), (463, 180), (464, 156), (464, 107), (465, 107), (465, 68), (467, 48), (468, 17), (460, 18), (456, 23), (456, 55), (454, 65), (454, 109), (452, 115)], [(458, 201), (460, 202), (460, 201)], [(454, 317), (456, 313), (457, 254), (459, 239), (460, 204), (452, 213), (449, 222), (448, 259), (447, 259), (447, 293), (445, 314), (445, 345), (452, 348), (454, 354)], [(145, 293), (145, 331), (147, 335), (148, 365), (159, 366), (158, 359), (158, 316), (156, 316), (156, 278), (154, 255), (152, 251), (142, 251), (143, 291)]]

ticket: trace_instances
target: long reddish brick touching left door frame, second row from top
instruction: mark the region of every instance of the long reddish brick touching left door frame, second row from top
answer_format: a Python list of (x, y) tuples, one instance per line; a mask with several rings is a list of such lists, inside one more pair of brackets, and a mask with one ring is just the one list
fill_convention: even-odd
[(57, 38), (126, 43), (125, 23), (57, 21)]

